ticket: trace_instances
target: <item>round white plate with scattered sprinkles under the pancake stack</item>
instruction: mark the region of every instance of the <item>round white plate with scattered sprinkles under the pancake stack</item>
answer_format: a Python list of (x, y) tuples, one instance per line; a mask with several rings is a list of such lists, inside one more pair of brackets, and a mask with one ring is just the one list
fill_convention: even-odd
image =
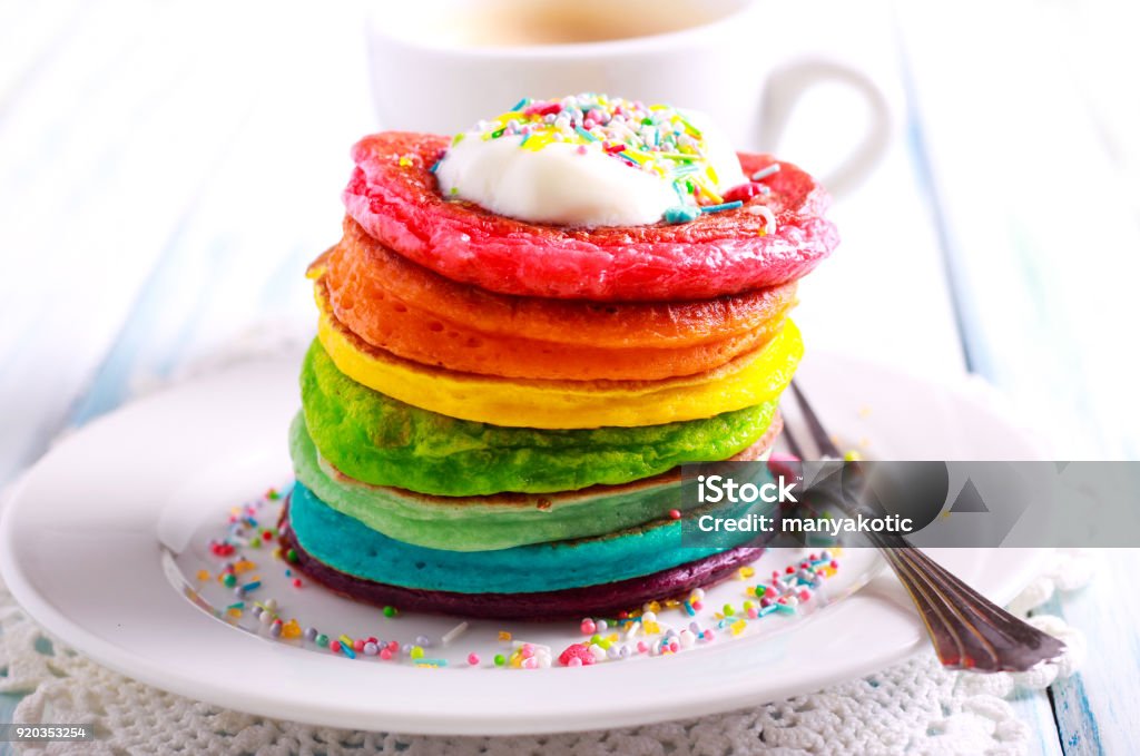
[[(927, 643), (901, 586), (886, 574), (804, 617), (750, 623), (756, 632), (739, 637), (577, 669), (489, 666), (494, 652), (506, 648), (490, 623), (473, 625), (449, 648), (429, 650), (451, 657), (442, 669), (351, 661), (268, 640), (263, 631), (243, 632), (174, 586), (179, 575), (193, 583), (196, 564), (217, 569), (203, 534), (222, 533), (231, 506), (287, 480), (296, 369), (295, 360), (262, 361), (180, 385), (91, 423), (40, 461), (0, 523), (0, 569), (28, 613), (108, 667), (184, 696), (284, 720), (449, 734), (592, 730), (740, 708), (874, 672)], [(866, 439), (880, 458), (1040, 454), (1032, 437), (978, 391), (821, 355), (805, 361), (800, 380), (837, 432), (853, 445)], [(163, 559), (160, 528), (163, 540), (181, 551), (172, 561)], [(1026, 585), (1042, 556), (1029, 550), (931, 554), (999, 602)], [(764, 569), (795, 556), (766, 554)], [(254, 598), (279, 598), (303, 623), (302, 613), (315, 611), (334, 632), (397, 640), (438, 637), (455, 625), (386, 619), (316, 586), (294, 590), (284, 584), (284, 564), (263, 558), (266, 587)], [(173, 582), (164, 561), (177, 564), (168, 570)], [(868, 552), (848, 551), (829, 590), (858, 588), (873, 561)], [(221, 588), (211, 580), (202, 592), (211, 591)], [(710, 592), (708, 603), (719, 605), (723, 596), (739, 602), (741, 584)], [(512, 631), (548, 643), (555, 655), (581, 640), (569, 626)], [(480, 651), (483, 664), (456, 664), (467, 650)]]

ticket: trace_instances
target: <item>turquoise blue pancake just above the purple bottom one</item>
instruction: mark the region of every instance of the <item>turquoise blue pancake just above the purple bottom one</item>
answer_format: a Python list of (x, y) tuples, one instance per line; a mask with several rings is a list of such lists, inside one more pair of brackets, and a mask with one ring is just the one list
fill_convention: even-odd
[[(685, 519), (656, 522), (608, 536), (456, 552), (413, 546), (372, 530), (332, 509), (303, 483), (290, 496), (290, 530), (312, 558), (339, 572), (388, 585), (450, 593), (537, 593), (617, 583), (652, 575), (741, 546), (752, 534), (718, 538), (719, 546), (684, 546)], [(725, 511), (726, 517), (739, 512)]]

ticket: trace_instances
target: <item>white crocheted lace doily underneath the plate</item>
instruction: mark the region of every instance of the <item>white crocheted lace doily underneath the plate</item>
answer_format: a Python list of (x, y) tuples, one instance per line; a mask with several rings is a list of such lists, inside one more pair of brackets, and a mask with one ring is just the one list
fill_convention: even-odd
[[(249, 359), (295, 351), (294, 334), (267, 328), (233, 349), (192, 365), (179, 377)], [(163, 382), (165, 383), (165, 381)], [(157, 382), (142, 381), (145, 392)], [(2, 497), (0, 497), (2, 498)], [(1058, 550), (1047, 569), (1013, 600), (1020, 616), (1092, 577), (1096, 552)], [(0, 583), (0, 692), (27, 696), (21, 724), (89, 723), (98, 739), (23, 745), (23, 754), (287, 754), (358, 756), (557, 756), (560, 754), (1013, 755), (1028, 750), (1031, 732), (1005, 700), (1018, 688), (1043, 689), (1084, 660), (1085, 639), (1065, 620), (1029, 618), (1067, 644), (1056, 662), (1023, 674), (982, 675), (943, 669), (933, 651), (840, 685), (699, 720), (577, 734), (445, 738), (358, 732), (279, 722), (166, 693), (111, 672), (54, 642), (19, 609)]]

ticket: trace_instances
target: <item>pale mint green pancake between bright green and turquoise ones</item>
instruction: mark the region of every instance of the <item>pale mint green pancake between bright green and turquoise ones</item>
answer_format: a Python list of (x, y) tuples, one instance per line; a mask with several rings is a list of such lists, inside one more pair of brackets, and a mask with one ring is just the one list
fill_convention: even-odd
[[(733, 460), (765, 458), (780, 426), (776, 415), (767, 432)], [(620, 486), (591, 486), (561, 494), (454, 497), (348, 478), (317, 454), (301, 415), (290, 428), (290, 452), (296, 479), (325, 504), (390, 538), (426, 548), (492, 551), (585, 538), (686, 509), (677, 469)], [(695, 503), (687, 503), (692, 505)]]

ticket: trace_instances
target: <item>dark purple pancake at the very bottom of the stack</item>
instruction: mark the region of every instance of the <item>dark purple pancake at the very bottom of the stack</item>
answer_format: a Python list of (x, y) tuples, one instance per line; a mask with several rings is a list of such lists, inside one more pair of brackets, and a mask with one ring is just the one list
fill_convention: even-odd
[(287, 522), (286, 506), (282, 510), (278, 523), (279, 540), (283, 550), (292, 548), (296, 554), (293, 569), (300, 570), (333, 593), (375, 607), (399, 607), (404, 611), (454, 615), (471, 619), (542, 621), (613, 617), (649, 601), (686, 596), (693, 588), (732, 576), (739, 568), (756, 561), (764, 553), (760, 547), (739, 546), (652, 575), (565, 591), (450, 593), (405, 588), (345, 575), (309, 555), (293, 537)]

